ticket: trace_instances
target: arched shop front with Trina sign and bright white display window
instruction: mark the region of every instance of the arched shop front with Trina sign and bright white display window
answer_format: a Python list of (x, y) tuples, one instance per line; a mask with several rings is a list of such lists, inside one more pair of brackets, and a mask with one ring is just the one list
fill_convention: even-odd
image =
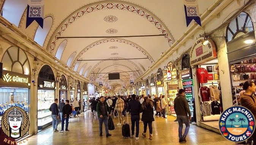
[(37, 114), (38, 131), (41, 131), (52, 125), (51, 111), (49, 107), (55, 99), (55, 76), (49, 65), (44, 65), (38, 74), (37, 90)]

